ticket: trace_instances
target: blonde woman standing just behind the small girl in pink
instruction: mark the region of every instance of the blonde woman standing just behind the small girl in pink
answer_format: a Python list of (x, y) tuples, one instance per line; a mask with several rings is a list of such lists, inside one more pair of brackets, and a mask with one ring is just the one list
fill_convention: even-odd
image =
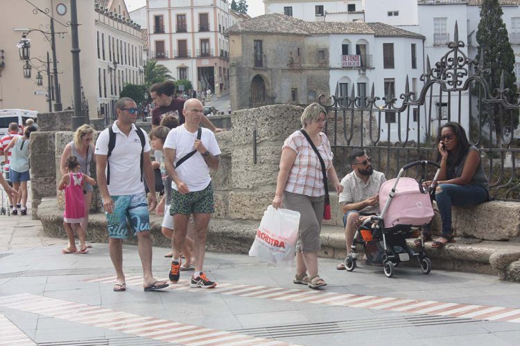
[[(62, 157), (60, 159), (60, 172), (62, 175), (67, 174), (67, 158), (73, 155), (78, 158), (78, 163), (80, 164), (80, 172), (82, 172), (85, 176), (90, 176), (90, 163), (96, 160), (96, 154), (94, 154), (94, 145), (92, 144), (92, 140), (94, 140), (94, 129), (90, 125), (81, 125), (74, 132), (73, 140), (63, 149)], [(87, 181), (85, 181), (85, 185), (83, 185), (83, 199), (85, 200), (83, 206), (85, 206), (85, 217), (83, 217), (83, 221), (81, 221), (81, 228), (87, 233), (87, 228), (89, 226), (89, 211), (90, 205), (92, 203), (92, 185)], [(71, 246), (71, 244), (69, 244)], [(89, 246), (90, 247), (90, 246)]]

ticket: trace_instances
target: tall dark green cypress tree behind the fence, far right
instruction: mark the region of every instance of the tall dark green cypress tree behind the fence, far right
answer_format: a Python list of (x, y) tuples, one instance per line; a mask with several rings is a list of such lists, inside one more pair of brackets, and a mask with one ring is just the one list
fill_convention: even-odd
[[(480, 61), (480, 54), (484, 54), (484, 68), (489, 69), (486, 75), (489, 89), (500, 88), (501, 73), (504, 73), (504, 88), (510, 92), (507, 97), (509, 102), (514, 102), (517, 93), (516, 78), (514, 76), (514, 53), (509, 42), (508, 30), (502, 20), (502, 8), (499, 0), (483, 0), (480, 10), (480, 22), (476, 39), (478, 42), (478, 54), (476, 60)], [(501, 112), (503, 121), (501, 121)], [(510, 134), (519, 125), (518, 111), (508, 111), (499, 104), (487, 104), (483, 108), (484, 120), (492, 125), (499, 145), (504, 134)], [(511, 127), (510, 119), (513, 119)]]

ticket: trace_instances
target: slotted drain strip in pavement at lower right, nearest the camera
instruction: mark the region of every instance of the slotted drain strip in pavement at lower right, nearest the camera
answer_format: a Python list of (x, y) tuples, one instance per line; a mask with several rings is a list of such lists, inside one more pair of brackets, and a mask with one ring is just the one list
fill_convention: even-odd
[(350, 331), (373, 331), (374, 329), (424, 327), (434, 325), (450, 325), (461, 323), (478, 323), (470, 318), (456, 318), (449, 316), (398, 316), (390, 318), (370, 318), (370, 320), (346, 320), (336, 322), (322, 322), (302, 325), (284, 325), (277, 327), (261, 327), (236, 329), (234, 333), (246, 334), (257, 338), (290, 338), (293, 336), (309, 336), (321, 334), (340, 334)]

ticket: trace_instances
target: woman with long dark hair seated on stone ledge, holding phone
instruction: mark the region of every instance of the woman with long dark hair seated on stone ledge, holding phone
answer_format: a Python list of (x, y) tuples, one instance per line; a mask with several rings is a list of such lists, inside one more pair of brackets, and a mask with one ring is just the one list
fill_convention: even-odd
[[(475, 206), (489, 199), (489, 186), (478, 149), (469, 143), (465, 129), (458, 122), (447, 122), (441, 127), (437, 149), (440, 175), (435, 201), (442, 219), (442, 236), (433, 242), (433, 248), (453, 242), (451, 206)], [(429, 227), (423, 230), (423, 237), (431, 239)], [(415, 245), (420, 244), (420, 239), (416, 239)]]

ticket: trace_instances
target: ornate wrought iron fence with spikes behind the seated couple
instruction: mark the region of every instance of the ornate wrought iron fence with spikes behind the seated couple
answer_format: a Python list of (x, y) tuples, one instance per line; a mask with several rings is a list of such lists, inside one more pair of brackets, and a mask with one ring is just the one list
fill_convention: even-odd
[[(338, 87), (335, 95), (320, 95), (318, 102), (329, 116), (325, 131), (338, 175), (350, 172), (348, 155), (355, 148), (372, 156), (374, 169), (387, 178), (396, 176), (408, 162), (437, 161), (438, 131), (444, 123), (456, 121), (480, 149), (492, 198), (520, 201), (520, 139), (514, 138), (520, 93), (510, 98), (504, 73), (499, 89), (490, 89), (482, 54), (476, 62), (467, 57), (464, 47), (465, 42), (458, 40), (456, 24), (449, 51), (440, 61), (431, 66), (426, 57), (426, 72), (420, 78), (422, 89), (410, 91), (407, 76), (399, 101), (393, 95), (374, 95), (374, 84), (368, 96), (356, 96), (352, 88), (350, 95), (341, 97)], [(487, 116), (491, 108), (494, 115)]]

